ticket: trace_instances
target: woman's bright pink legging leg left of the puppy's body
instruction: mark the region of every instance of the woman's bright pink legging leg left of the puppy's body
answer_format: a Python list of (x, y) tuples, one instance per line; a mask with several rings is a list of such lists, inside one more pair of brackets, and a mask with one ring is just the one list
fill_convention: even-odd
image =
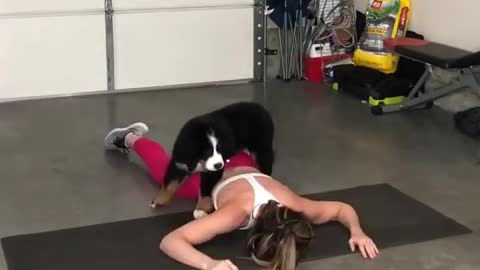
[[(162, 184), (167, 172), (170, 155), (159, 143), (148, 139), (140, 138), (133, 144), (133, 150), (145, 162), (155, 182)], [(192, 174), (177, 189), (176, 195), (181, 198), (195, 199), (200, 190), (200, 174)]]

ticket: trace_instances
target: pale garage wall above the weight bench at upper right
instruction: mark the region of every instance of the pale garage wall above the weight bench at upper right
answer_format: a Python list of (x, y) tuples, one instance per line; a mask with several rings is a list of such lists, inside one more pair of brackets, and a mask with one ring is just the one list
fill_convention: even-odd
[[(358, 10), (367, 9), (368, 0), (355, 0)], [(429, 40), (466, 50), (480, 50), (479, 0), (412, 0), (410, 29)]]

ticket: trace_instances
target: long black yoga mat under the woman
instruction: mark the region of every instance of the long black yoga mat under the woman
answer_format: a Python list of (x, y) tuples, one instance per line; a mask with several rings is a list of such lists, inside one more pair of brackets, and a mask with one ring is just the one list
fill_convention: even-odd
[[(364, 230), (380, 249), (471, 231), (387, 184), (305, 195), (339, 200), (357, 210)], [(189, 269), (163, 255), (159, 240), (188, 222), (184, 212), (2, 239), (10, 270)], [(304, 261), (349, 254), (348, 232), (337, 223), (315, 227), (316, 238)], [(246, 259), (245, 232), (235, 231), (200, 246), (217, 259), (232, 259), (240, 269), (256, 269)]]

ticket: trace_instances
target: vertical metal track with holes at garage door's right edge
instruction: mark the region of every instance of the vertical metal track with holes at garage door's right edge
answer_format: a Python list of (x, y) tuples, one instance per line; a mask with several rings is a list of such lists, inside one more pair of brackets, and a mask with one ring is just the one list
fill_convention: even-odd
[(266, 0), (255, 0), (253, 9), (253, 79), (267, 79), (267, 16)]

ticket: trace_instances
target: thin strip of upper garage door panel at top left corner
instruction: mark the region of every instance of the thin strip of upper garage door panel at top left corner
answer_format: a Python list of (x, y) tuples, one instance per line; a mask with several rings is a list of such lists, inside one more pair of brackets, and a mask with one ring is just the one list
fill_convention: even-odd
[(0, 0), (0, 15), (31, 12), (103, 10), (103, 0)]

